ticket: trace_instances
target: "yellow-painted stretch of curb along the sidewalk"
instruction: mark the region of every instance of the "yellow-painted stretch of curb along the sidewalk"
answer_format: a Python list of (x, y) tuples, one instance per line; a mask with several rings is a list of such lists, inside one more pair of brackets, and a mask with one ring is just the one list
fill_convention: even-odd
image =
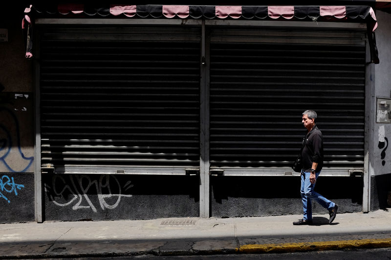
[(391, 247), (391, 239), (337, 240), (322, 242), (247, 244), (236, 249), (238, 253), (291, 253), (351, 248)]

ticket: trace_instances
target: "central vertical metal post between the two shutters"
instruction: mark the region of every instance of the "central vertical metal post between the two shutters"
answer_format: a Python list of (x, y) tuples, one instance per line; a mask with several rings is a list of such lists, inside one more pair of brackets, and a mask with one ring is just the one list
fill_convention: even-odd
[(201, 24), (199, 217), (210, 217), (209, 183), (209, 63), (205, 50), (205, 20)]

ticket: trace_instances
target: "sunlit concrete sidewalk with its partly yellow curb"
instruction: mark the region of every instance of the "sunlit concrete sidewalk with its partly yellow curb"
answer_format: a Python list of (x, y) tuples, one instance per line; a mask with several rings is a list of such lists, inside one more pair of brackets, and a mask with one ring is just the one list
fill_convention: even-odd
[(391, 247), (391, 212), (0, 224), (0, 259), (210, 255)]

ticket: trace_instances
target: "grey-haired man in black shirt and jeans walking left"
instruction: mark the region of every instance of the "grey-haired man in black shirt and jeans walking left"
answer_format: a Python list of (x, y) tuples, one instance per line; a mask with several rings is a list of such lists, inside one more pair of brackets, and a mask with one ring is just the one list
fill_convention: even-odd
[(301, 173), (302, 184), (300, 188), (304, 215), (303, 219), (293, 222), (294, 225), (312, 224), (311, 200), (316, 200), (328, 210), (330, 214), (329, 223), (331, 223), (337, 215), (338, 205), (314, 191), (315, 182), (323, 167), (323, 136), (322, 132), (316, 126), (316, 117), (317, 114), (313, 110), (306, 110), (303, 113), (302, 123), (307, 129), (307, 134), (303, 140), (303, 169)]

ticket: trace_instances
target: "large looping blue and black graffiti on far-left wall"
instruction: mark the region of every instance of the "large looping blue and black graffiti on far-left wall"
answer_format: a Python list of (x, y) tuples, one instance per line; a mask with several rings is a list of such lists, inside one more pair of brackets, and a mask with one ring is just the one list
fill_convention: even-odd
[[(4, 94), (4, 93), (3, 93)], [(32, 165), (34, 157), (27, 157), (22, 152), (21, 144), (21, 127), (18, 116), (15, 113), (23, 113), (27, 111), (26, 105), (23, 102), (13, 100), (27, 100), (27, 94), (14, 94), (13, 100), (2, 96), (2, 106), (0, 107), (0, 166), (8, 172), (25, 172)], [(4, 102), (6, 101), (6, 102)], [(11, 108), (5, 107), (12, 106)], [(21, 105), (22, 104), (22, 105)], [(31, 126), (27, 125), (28, 131), (31, 131)]]

